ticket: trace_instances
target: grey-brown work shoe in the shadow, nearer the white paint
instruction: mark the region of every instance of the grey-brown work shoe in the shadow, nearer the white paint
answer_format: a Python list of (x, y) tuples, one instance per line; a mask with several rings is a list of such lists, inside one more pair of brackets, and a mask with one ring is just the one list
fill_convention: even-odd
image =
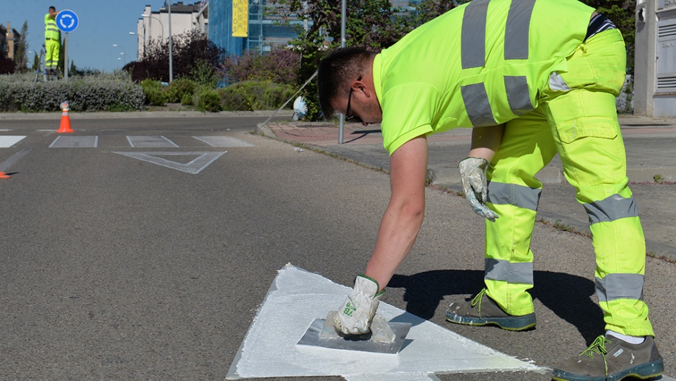
[(484, 326), (497, 325), (508, 331), (524, 331), (535, 326), (535, 313), (509, 315), (481, 290), (470, 302), (453, 302), (446, 310), (446, 320), (452, 323)]

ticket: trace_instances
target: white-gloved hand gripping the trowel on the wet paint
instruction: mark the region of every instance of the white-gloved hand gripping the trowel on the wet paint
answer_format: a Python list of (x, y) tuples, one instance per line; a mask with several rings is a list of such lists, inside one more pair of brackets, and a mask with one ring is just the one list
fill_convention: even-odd
[(385, 290), (378, 292), (380, 286), (376, 280), (366, 275), (358, 275), (355, 289), (348, 295), (338, 313), (333, 318), (337, 331), (346, 335), (361, 335), (371, 330), (371, 321), (380, 304)]

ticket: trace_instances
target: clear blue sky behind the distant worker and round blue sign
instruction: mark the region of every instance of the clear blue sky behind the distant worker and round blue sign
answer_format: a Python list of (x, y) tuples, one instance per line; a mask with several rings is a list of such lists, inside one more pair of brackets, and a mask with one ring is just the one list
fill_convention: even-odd
[[(137, 60), (137, 36), (129, 32), (136, 32), (146, 5), (156, 12), (164, 3), (165, 0), (0, 0), (0, 24), (6, 27), (9, 21), (12, 29), (21, 32), (23, 22), (28, 21), (28, 50), (39, 53), (49, 7), (72, 10), (77, 14), (78, 25), (68, 34), (68, 61), (74, 61), (77, 68), (110, 72)], [(33, 56), (28, 53), (29, 65)]]

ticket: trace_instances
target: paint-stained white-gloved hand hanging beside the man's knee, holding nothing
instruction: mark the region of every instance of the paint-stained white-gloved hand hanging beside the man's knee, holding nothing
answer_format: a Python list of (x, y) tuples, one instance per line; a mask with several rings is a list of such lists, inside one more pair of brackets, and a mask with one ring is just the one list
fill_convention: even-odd
[(488, 161), (482, 157), (466, 157), (458, 163), (462, 188), (472, 210), (481, 217), (493, 221), (497, 218), (497, 214), (486, 206), (486, 193), (488, 191), (486, 167), (488, 167)]

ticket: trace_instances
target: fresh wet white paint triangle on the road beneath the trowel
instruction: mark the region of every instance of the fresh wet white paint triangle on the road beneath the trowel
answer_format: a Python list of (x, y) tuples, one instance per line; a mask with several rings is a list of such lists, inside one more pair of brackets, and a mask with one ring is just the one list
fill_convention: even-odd
[(348, 381), (435, 380), (434, 373), (535, 371), (488, 346), (382, 303), (390, 322), (410, 322), (397, 354), (367, 353), (297, 345), (308, 326), (344, 302), (349, 287), (290, 264), (279, 270), (230, 366), (228, 380), (341, 375)]

